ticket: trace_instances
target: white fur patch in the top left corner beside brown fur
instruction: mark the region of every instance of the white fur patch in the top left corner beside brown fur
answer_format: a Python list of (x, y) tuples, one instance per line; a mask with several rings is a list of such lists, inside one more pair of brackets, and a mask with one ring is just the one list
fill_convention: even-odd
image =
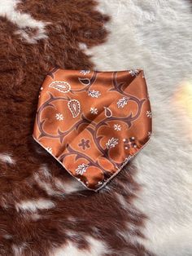
[[(16, 24), (19, 27), (16, 33), (20, 34), (27, 42), (35, 43), (37, 40), (47, 38), (45, 28), (48, 23), (34, 20), (31, 15), (16, 10), (16, 5), (19, 2), (20, 0), (1, 0), (0, 16), (6, 17), (7, 20)], [(24, 30), (25, 28), (37, 29), (37, 33), (29, 36)]]

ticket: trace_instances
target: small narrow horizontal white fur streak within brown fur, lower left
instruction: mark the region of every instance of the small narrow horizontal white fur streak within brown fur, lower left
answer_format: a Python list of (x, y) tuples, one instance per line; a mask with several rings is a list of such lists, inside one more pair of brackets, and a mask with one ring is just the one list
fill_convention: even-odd
[(46, 210), (55, 207), (55, 203), (46, 199), (37, 199), (30, 201), (21, 201), (15, 205), (16, 210), (35, 212), (37, 210)]

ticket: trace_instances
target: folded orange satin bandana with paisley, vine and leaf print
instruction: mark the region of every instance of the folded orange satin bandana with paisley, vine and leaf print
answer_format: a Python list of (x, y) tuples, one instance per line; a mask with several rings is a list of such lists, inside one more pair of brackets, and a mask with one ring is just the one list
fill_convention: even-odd
[(41, 86), (33, 138), (86, 188), (98, 191), (151, 137), (141, 69), (54, 68)]

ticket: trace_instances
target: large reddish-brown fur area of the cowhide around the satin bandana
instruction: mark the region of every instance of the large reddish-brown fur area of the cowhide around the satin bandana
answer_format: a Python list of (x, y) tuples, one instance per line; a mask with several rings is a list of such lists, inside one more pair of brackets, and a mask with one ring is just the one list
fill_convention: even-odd
[[(149, 255), (133, 241), (142, 237), (145, 219), (131, 204), (138, 189), (133, 167), (121, 171), (101, 192), (67, 193), (73, 178), (32, 138), (38, 91), (46, 73), (54, 66), (93, 68), (79, 43), (104, 42), (108, 17), (95, 11), (92, 0), (27, 0), (18, 10), (50, 24), (48, 38), (31, 44), (15, 33), (15, 24), (0, 19), (0, 152), (15, 160), (15, 165), (0, 161), (0, 255), (17, 255), (15, 248), (22, 250), (18, 255), (52, 255), (52, 249), (67, 241), (89, 248), (87, 235), (107, 243), (111, 251), (106, 255)], [(24, 28), (28, 37), (37, 30)], [(39, 199), (52, 201), (55, 207), (35, 212), (18, 207)]]

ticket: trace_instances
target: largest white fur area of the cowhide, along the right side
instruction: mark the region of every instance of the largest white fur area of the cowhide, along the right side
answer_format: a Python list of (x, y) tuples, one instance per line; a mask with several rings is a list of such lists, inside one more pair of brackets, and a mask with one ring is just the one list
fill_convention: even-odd
[[(175, 92), (191, 82), (192, 15), (185, 0), (100, 0), (111, 15), (108, 41), (87, 50), (98, 70), (143, 68), (153, 135), (134, 159), (142, 192), (135, 201), (149, 218), (147, 249), (159, 256), (192, 255), (192, 147), (187, 115)], [(119, 196), (120, 204), (125, 206)]]

